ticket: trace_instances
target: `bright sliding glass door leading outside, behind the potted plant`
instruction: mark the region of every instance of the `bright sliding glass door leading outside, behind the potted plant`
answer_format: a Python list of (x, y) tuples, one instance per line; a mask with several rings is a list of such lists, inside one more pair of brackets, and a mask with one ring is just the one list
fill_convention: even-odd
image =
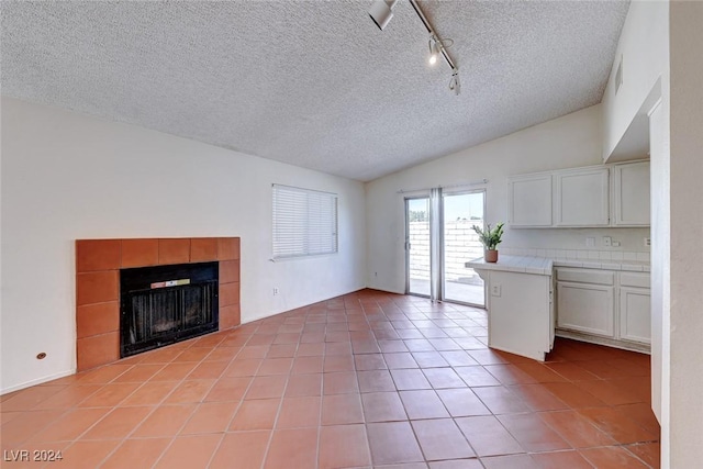
[(405, 291), (483, 306), (483, 281), (464, 266), (483, 255), (472, 230), (483, 227), (486, 191), (445, 192), (405, 199)]

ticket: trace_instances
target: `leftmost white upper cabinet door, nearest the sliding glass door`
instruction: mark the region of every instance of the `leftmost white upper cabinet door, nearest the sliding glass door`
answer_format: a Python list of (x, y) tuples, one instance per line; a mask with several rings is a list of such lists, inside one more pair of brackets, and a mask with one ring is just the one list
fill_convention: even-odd
[(551, 226), (551, 175), (512, 177), (509, 194), (512, 226)]

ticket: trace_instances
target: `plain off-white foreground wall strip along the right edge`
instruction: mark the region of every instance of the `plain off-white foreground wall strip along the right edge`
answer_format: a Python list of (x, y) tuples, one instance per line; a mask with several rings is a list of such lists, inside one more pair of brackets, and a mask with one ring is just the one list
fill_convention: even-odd
[(670, 5), (670, 459), (703, 461), (703, 2)]

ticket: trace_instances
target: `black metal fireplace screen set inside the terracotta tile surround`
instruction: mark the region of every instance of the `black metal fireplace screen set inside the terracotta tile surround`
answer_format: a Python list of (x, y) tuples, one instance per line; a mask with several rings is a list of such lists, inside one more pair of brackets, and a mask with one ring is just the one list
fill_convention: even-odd
[(122, 269), (121, 357), (217, 331), (217, 263)]

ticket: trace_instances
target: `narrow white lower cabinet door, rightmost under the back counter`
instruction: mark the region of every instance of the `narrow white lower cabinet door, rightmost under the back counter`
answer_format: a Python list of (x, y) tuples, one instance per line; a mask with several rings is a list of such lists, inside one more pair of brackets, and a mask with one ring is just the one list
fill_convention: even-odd
[(620, 338), (651, 343), (649, 289), (620, 288)]

